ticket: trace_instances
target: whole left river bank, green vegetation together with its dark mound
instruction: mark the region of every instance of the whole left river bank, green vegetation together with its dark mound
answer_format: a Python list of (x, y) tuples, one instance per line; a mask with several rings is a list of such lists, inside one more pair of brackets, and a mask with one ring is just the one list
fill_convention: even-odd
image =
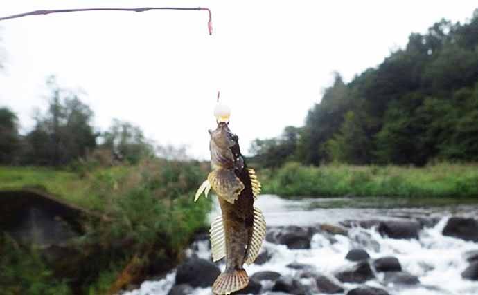
[[(3, 294), (116, 294), (167, 272), (206, 228), (210, 202), (192, 202), (205, 177), (197, 162), (159, 159), (80, 173), (2, 167)], [(67, 207), (89, 214), (72, 220)]]

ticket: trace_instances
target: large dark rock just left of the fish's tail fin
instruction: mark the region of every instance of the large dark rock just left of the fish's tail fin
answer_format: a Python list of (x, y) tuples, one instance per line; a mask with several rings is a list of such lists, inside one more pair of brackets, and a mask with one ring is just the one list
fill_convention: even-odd
[(188, 284), (192, 287), (212, 286), (220, 270), (214, 263), (199, 258), (189, 258), (177, 267), (176, 285)]

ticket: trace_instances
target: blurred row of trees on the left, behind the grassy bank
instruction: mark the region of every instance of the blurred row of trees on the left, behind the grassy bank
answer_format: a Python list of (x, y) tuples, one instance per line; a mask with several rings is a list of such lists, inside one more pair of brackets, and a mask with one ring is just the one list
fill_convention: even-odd
[(93, 126), (94, 112), (80, 95), (47, 79), (48, 108), (35, 115), (35, 127), (21, 135), (15, 112), (0, 107), (0, 164), (63, 166), (93, 158), (135, 164), (154, 154), (152, 142), (129, 122), (113, 120), (107, 131)]

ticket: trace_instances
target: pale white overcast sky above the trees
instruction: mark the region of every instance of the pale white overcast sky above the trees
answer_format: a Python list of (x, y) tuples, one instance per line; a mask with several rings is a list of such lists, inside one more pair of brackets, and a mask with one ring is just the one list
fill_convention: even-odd
[(0, 16), (38, 9), (181, 6), (204, 11), (78, 12), (0, 22), (6, 70), (0, 107), (23, 131), (46, 106), (45, 79), (81, 88), (105, 130), (113, 118), (141, 126), (158, 144), (209, 159), (218, 90), (232, 110), (242, 151), (251, 140), (301, 126), (330, 86), (377, 66), (411, 32), (442, 17), (466, 21), (477, 1), (1, 1)]

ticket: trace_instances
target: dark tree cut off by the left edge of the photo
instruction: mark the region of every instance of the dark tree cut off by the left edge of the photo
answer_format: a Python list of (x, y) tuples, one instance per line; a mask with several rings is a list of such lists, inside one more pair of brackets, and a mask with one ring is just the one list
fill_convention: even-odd
[(13, 164), (19, 148), (17, 115), (0, 108), (0, 163)]

